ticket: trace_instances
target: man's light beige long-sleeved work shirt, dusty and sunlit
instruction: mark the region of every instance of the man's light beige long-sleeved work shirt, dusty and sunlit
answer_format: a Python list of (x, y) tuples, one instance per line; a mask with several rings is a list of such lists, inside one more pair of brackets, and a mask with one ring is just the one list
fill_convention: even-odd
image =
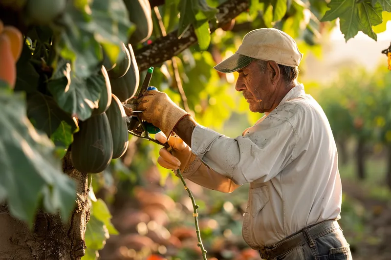
[(228, 193), (250, 182), (242, 235), (253, 249), (340, 219), (336, 144), (323, 109), (302, 84), (243, 136), (229, 138), (197, 125), (192, 151), (197, 158), (185, 178)]

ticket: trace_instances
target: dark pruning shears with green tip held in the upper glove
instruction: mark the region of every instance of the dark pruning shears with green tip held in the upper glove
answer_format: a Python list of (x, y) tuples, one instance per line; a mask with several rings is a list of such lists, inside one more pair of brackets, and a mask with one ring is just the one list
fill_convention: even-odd
[[(141, 94), (143, 94), (145, 91), (148, 90), (157, 90), (157, 88), (149, 86), (152, 78), (152, 73), (153, 73), (153, 67), (150, 67), (147, 71), (147, 75), (145, 76), (144, 82), (141, 85), (138, 96), (140, 96)], [(131, 108), (132, 109), (135, 108), (135, 105), (136, 104), (133, 104), (133, 107)], [(152, 123), (142, 121), (139, 117), (141, 113), (142, 111), (133, 110), (132, 115), (127, 117), (129, 131), (133, 131), (134, 133), (139, 135), (145, 132), (147, 136), (149, 134), (156, 134), (161, 131), (158, 127), (154, 126)]]

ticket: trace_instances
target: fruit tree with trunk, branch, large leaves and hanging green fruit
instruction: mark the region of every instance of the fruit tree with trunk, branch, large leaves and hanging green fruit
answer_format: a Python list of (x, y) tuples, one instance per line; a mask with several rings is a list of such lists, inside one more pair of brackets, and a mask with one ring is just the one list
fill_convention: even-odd
[(116, 233), (91, 178), (125, 153), (128, 128), (145, 130), (126, 108), (151, 66), (151, 84), (212, 125), (237, 107), (232, 75), (210, 68), (245, 33), (313, 46), (339, 18), (346, 40), (376, 40), (382, 11), (390, 1), (1, 0), (1, 259), (95, 259)]

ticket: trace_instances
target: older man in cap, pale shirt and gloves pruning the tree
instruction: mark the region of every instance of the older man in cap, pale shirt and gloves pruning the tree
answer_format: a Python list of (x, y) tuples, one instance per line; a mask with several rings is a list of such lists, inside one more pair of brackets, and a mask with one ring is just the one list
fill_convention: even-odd
[(168, 140), (174, 156), (160, 150), (163, 167), (221, 192), (250, 183), (242, 235), (263, 259), (350, 260), (337, 222), (337, 149), (321, 106), (297, 82), (302, 57), (287, 34), (262, 28), (217, 64), (217, 71), (239, 73), (236, 90), (252, 112), (265, 114), (235, 139), (197, 124), (159, 91), (145, 92), (137, 109), (162, 130), (160, 141), (179, 136)]

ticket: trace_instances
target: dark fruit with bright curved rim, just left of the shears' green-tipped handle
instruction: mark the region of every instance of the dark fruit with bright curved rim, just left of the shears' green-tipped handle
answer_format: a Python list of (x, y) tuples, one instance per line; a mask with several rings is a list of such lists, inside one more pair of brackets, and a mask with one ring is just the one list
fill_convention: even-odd
[(111, 93), (121, 102), (134, 97), (140, 83), (140, 74), (131, 44), (128, 44), (128, 48), (130, 54), (130, 68), (128, 72), (121, 78), (110, 78)]

